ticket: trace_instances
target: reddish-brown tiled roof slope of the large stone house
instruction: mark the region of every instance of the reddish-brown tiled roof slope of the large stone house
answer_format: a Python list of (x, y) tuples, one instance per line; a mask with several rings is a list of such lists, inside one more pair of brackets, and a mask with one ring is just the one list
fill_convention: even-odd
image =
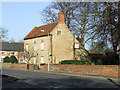
[[(32, 29), (32, 31), (24, 38), (24, 40), (39, 37), (39, 36), (48, 35), (48, 33), (50, 33), (57, 24), (58, 24), (58, 22), (53, 22), (53, 23), (43, 25), (40, 27), (34, 27)], [(41, 30), (44, 30), (44, 31), (41, 31)]]

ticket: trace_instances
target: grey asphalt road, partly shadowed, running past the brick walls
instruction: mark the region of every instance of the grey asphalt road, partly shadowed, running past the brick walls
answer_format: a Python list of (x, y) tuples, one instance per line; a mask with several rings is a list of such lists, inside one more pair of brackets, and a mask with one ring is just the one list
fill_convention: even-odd
[[(18, 81), (2, 88), (118, 88), (117, 80), (107, 77), (2, 69), (2, 73)], [(114, 79), (114, 78), (113, 78)]]

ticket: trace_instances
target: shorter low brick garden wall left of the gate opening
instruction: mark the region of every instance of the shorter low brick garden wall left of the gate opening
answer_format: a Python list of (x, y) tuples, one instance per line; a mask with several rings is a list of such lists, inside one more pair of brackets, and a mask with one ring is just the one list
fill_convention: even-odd
[[(2, 63), (3, 68), (13, 68), (13, 69), (27, 69), (26, 64), (10, 64), (10, 63)], [(29, 70), (34, 70), (34, 65), (29, 65)]]

